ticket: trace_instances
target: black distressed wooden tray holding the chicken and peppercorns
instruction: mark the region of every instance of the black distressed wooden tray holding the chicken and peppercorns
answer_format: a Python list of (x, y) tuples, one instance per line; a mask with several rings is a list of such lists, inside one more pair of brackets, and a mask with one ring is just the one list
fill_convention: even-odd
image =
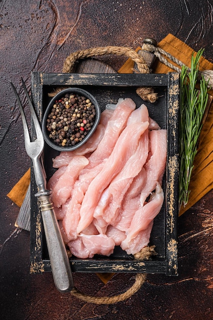
[[(116, 103), (119, 98), (132, 98), (139, 107), (145, 103), (151, 118), (162, 129), (168, 130), (167, 167), (163, 177), (164, 203), (154, 219), (150, 245), (155, 245), (157, 255), (150, 261), (135, 260), (120, 247), (115, 247), (110, 257), (94, 256), (92, 259), (72, 257), (70, 264), (75, 272), (146, 272), (177, 275), (177, 217), (178, 217), (178, 112), (179, 74), (48, 74), (33, 72), (32, 100), (40, 121), (50, 98), (48, 93), (57, 87), (79, 86), (88, 90), (98, 100), (101, 110), (107, 103)], [(141, 100), (136, 94), (139, 86), (151, 86), (158, 93), (155, 103)], [(33, 133), (34, 135), (35, 133)], [(47, 145), (43, 161), (47, 179), (56, 169), (52, 158), (58, 154)], [(38, 210), (37, 191), (31, 170), (31, 273), (51, 271), (46, 248), (42, 219)]]

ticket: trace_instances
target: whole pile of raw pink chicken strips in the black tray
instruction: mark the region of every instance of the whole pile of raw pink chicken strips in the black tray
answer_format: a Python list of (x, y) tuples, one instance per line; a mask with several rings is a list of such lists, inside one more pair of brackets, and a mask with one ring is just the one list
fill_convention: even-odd
[(109, 256), (120, 245), (135, 254), (149, 243), (160, 212), (167, 130), (120, 99), (81, 148), (53, 159), (48, 182), (64, 243), (81, 259)]

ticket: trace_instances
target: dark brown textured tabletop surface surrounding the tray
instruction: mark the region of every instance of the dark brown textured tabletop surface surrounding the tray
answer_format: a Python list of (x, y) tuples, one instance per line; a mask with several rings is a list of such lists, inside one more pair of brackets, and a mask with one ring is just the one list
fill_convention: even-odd
[[(72, 3), (72, 5), (71, 5)], [(173, 33), (212, 62), (213, 1), (0, 1), (0, 305), (3, 319), (213, 319), (213, 192), (179, 221), (179, 276), (148, 275), (125, 302), (92, 305), (55, 289), (51, 273), (30, 275), (30, 235), (14, 227), (18, 207), (7, 193), (30, 166), (9, 80), (30, 86), (30, 72), (61, 72), (69, 53), (105, 45), (137, 48), (149, 36)], [(115, 70), (126, 57), (104, 56)], [(22, 95), (22, 91), (21, 91)], [(28, 115), (29, 116), (29, 115)], [(114, 295), (134, 282), (116, 274), (75, 273), (78, 289)]]

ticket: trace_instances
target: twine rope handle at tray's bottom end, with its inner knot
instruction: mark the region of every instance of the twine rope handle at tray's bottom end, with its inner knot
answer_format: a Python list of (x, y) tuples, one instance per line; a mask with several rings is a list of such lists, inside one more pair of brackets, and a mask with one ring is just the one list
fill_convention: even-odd
[[(144, 247), (143, 249), (140, 250), (139, 253), (135, 254), (134, 257), (137, 260), (149, 260), (152, 255), (155, 255), (154, 246)], [(130, 296), (135, 294), (140, 289), (140, 287), (145, 283), (146, 276), (147, 276), (146, 273), (137, 273), (134, 284), (124, 293), (114, 295), (114, 296), (104, 296), (104, 297), (91, 296), (91, 295), (87, 295), (85, 293), (80, 292), (75, 287), (73, 288), (72, 291), (70, 291), (70, 293), (76, 296), (76, 298), (79, 298), (89, 303), (94, 303), (99, 305), (115, 304), (117, 302), (127, 300), (128, 298), (130, 298)]]

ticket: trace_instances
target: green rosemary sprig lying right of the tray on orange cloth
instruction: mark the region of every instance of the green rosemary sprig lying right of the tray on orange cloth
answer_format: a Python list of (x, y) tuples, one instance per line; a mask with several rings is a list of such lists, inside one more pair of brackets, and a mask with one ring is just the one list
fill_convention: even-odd
[(207, 85), (203, 76), (197, 82), (199, 60), (203, 49), (192, 55), (191, 70), (182, 67), (180, 74), (180, 123), (179, 123), (179, 209), (186, 205), (197, 143), (202, 128), (202, 120), (208, 100)]

